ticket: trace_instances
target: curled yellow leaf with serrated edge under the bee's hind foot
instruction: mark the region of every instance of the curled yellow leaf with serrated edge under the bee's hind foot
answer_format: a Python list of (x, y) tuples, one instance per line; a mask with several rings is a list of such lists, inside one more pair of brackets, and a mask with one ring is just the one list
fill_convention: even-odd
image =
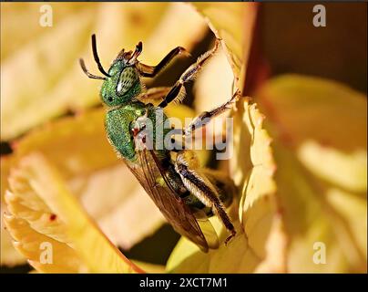
[[(240, 186), (241, 191), (240, 221), (234, 206), (230, 212), (238, 234), (229, 245), (220, 245), (219, 249), (210, 250), (208, 254), (202, 253), (189, 240), (181, 238), (169, 257), (169, 272), (250, 273), (266, 260), (271, 264), (265, 262), (263, 271), (284, 269), (284, 238), (282, 233), (279, 236), (274, 235), (281, 227), (280, 224), (273, 224), (273, 219), (278, 215), (272, 179), (275, 166), (271, 156), (271, 139), (262, 128), (262, 121), (263, 117), (256, 105), (249, 106), (248, 101), (244, 101), (242, 108), (235, 113), (235, 150), (230, 162), (234, 172), (232, 177), (235, 177), (235, 183)], [(217, 218), (211, 218), (211, 222), (223, 242), (226, 231)], [(271, 248), (266, 250), (267, 246), (275, 244), (282, 247), (277, 253)], [(269, 255), (273, 256), (273, 261), (268, 258)], [(275, 255), (278, 260), (274, 260)]]

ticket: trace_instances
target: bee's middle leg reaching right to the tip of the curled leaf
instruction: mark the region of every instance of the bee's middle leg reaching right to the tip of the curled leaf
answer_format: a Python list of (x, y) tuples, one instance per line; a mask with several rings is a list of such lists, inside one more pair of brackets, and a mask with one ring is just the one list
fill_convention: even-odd
[(183, 135), (189, 135), (193, 130), (197, 130), (210, 122), (210, 120), (226, 110), (230, 110), (232, 105), (239, 99), (240, 90), (238, 89), (231, 97), (230, 100), (210, 111), (203, 111), (196, 118), (194, 118), (189, 126), (184, 129)]

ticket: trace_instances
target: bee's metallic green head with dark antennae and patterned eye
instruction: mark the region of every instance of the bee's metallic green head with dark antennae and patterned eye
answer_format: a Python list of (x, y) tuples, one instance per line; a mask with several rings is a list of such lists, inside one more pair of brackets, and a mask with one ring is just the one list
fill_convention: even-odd
[(92, 35), (93, 56), (97, 62), (99, 71), (105, 77), (92, 75), (87, 71), (83, 59), (80, 59), (80, 65), (89, 78), (102, 79), (104, 83), (101, 87), (101, 99), (109, 107), (118, 106), (127, 103), (138, 95), (141, 91), (141, 83), (138, 68), (136, 68), (137, 57), (142, 52), (142, 43), (139, 42), (134, 52), (120, 51), (118, 57), (114, 60), (108, 73), (102, 67), (97, 55), (96, 36)]

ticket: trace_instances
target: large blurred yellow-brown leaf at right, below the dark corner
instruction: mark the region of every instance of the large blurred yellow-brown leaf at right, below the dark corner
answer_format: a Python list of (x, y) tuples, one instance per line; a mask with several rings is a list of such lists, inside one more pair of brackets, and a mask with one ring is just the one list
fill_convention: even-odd
[(288, 271), (366, 272), (366, 97), (289, 75), (256, 99), (274, 140)]

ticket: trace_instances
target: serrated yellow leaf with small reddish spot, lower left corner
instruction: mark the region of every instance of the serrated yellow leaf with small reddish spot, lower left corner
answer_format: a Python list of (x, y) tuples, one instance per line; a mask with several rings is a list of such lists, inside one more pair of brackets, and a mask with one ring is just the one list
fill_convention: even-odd
[(93, 224), (41, 154), (31, 154), (20, 162), (10, 176), (10, 190), (5, 195), (10, 212), (5, 224), (15, 248), (36, 270), (141, 271)]

